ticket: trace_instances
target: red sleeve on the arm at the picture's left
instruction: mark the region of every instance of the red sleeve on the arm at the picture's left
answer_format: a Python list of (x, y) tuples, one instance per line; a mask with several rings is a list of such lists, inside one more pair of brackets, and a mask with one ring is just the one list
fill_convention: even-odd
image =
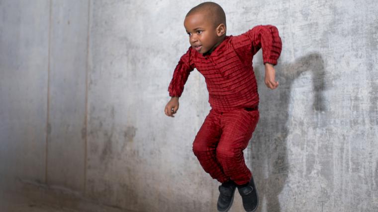
[(181, 56), (179, 63), (177, 64), (171, 83), (168, 87), (169, 96), (181, 97), (184, 91), (184, 85), (188, 80), (190, 71), (194, 69), (194, 64), (191, 60), (191, 47), (187, 53)]

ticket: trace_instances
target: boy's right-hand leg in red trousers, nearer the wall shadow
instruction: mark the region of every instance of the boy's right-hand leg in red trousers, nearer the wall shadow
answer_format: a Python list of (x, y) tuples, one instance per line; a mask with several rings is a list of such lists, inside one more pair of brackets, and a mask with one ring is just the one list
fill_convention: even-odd
[(252, 177), (245, 164), (243, 150), (248, 146), (258, 120), (258, 109), (237, 109), (221, 116), (222, 136), (216, 148), (216, 157), (225, 175), (238, 185), (249, 183)]

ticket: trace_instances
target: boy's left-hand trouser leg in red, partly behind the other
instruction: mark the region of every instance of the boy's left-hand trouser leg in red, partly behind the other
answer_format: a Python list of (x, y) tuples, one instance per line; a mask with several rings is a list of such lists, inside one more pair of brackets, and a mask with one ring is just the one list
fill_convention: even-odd
[(210, 110), (193, 142), (193, 153), (202, 168), (214, 179), (223, 183), (229, 180), (216, 159), (215, 148), (219, 143), (221, 128), (218, 112)]

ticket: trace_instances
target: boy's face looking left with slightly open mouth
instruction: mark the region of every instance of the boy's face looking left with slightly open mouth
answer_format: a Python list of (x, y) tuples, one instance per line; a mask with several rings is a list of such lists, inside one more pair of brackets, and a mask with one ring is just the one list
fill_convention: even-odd
[(189, 35), (190, 46), (197, 52), (211, 52), (219, 44), (220, 37), (217, 35), (216, 27), (204, 14), (190, 14), (185, 18), (184, 26)]

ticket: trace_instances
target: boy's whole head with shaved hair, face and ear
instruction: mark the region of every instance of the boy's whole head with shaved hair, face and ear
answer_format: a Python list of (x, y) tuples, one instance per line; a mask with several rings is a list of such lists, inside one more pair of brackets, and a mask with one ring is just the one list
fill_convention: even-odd
[(189, 10), (184, 26), (190, 45), (199, 53), (211, 53), (226, 36), (226, 15), (219, 4), (203, 2)]

